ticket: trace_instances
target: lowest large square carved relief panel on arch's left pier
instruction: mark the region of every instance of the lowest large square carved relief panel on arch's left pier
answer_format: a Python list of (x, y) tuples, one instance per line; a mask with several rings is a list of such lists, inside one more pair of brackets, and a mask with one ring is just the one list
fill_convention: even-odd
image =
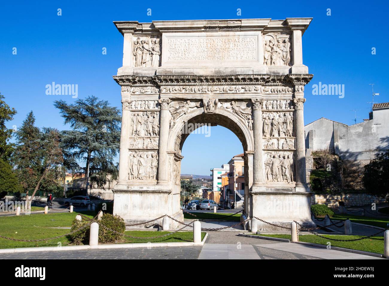
[(155, 180), (158, 158), (156, 151), (131, 151), (129, 153), (129, 180)]

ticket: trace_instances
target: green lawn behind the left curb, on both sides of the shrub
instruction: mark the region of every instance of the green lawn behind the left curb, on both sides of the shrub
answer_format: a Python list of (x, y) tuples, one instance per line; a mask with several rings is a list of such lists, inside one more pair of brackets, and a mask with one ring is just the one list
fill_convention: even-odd
[[(69, 233), (69, 229), (50, 228), (50, 227), (66, 227), (72, 226), (72, 221), (77, 214), (83, 214), (88, 218), (95, 216), (94, 211), (82, 212), (62, 212), (48, 214), (30, 214), (20, 216), (0, 216), (0, 235), (15, 239), (46, 239), (64, 235)], [(147, 239), (147, 237), (159, 236), (168, 232), (156, 231), (127, 231), (127, 235), (145, 237), (145, 239), (131, 239), (125, 237), (123, 243), (139, 243), (139, 242), (187, 242), (193, 241), (193, 232), (176, 232), (172, 235), (161, 237), (158, 239)], [(205, 232), (202, 232), (202, 239)], [(19, 247), (41, 247), (41, 246), (58, 246), (58, 242), (62, 246), (70, 244), (68, 237), (59, 239), (40, 241), (40, 242), (21, 242), (0, 238), (0, 249), (2, 248), (19, 248)]]

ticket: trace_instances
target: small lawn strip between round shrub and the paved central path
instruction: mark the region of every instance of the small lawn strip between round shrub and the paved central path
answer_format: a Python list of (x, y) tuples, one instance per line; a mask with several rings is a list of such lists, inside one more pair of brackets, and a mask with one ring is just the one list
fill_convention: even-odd
[[(189, 232), (176, 232), (166, 237), (160, 237), (156, 239), (147, 239), (147, 237), (164, 235), (169, 232), (156, 232), (156, 231), (143, 231), (143, 230), (131, 230), (125, 232), (126, 235), (132, 235), (137, 237), (144, 237), (144, 239), (133, 239), (131, 237), (124, 237), (126, 241), (123, 243), (147, 243), (147, 242), (193, 242), (193, 231)], [(205, 232), (201, 233), (201, 239), (205, 237)]]

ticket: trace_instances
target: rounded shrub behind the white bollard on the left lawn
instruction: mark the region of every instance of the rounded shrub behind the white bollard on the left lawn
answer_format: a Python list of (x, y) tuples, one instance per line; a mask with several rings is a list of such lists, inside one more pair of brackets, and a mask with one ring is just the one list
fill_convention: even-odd
[[(91, 221), (82, 220), (78, 221), (77, 219), (74, 219), (72, 222), (72, 229), (77, 230), (81, 228), (82, 226), (88, 225)], [(126, 231), (126, 224), (124, 223), (124, 219), (122, 219), (120, 216), (113, 216), (112, 214), (103, 214), (103, 217), (99, 223), (99, 230), (98, 230), (98, 242), (99, 243), (110, 243), (110, 242), (117, 242), (123, 240), (123, 234)], [(107, 230), (105, 227), (110, 228), (112, 230), (115, 230), (116, 232), (112, 232), (110, 230)], [(72, 233), (70, 236), (70, 240), (74, 244), (89, 244), (89, 233), (90, 233), (90, 227), (87, 226), (81, 230), (78, 230), (74, 233)]]

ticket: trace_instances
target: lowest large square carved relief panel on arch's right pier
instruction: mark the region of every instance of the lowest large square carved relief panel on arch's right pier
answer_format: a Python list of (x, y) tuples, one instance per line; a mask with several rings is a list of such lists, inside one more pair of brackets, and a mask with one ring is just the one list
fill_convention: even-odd
[(293, 182), (294, 161), (291, 151), (272, 151), (264, 153), (265, 180), (267, 182)]

